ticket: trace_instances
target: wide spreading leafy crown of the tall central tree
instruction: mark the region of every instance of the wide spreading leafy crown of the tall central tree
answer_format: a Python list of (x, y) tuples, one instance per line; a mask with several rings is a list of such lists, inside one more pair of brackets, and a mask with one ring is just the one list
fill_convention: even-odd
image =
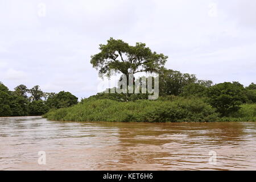
[(100, 52), (91, 57), (90, 63), (102, 76), (115, 73), (158, 72), (166, 63), (168, 56), (152, 52), (144, 43), (130, 46), (123, 40), (110, 38), (108, 44), (100, 44)]

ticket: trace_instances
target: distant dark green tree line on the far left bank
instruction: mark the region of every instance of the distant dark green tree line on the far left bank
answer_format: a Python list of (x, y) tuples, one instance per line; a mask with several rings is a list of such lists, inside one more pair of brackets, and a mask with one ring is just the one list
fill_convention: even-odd
[(0, 117), (43, 115), (50, 109), (60, 109), (78, 103), (78, 98), (69, 92), (47, 93), (36, 85), (28, 89), (19, 85), (10, 91), (0, 82)]

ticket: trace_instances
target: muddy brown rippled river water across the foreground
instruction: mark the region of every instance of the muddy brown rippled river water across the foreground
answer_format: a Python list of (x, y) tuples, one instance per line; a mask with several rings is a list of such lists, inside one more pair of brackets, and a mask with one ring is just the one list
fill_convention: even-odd
[[(46, 151), (46, 165), (38, 152)], [(217, 164), (209, 164), (209, 151)], [(256, 170), (256, 123), (0, 118), (1, 170)]]

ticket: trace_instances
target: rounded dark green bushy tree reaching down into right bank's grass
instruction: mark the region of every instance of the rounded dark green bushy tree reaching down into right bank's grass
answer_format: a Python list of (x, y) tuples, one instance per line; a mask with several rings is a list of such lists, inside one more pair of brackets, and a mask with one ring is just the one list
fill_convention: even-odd
[(245, 89), (238, 82), (224, 82), (208, 89), (208, 101), (222, 117), (229, 116), (240, 109), (246, 101)]

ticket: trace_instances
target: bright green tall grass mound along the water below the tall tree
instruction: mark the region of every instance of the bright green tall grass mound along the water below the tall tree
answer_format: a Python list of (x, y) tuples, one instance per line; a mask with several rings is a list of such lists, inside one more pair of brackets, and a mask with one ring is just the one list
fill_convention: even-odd
[(176, 101), (118, 102), (88, 100), (65, 109), (50, 111), (44, 117), (61, 121), (107, 122), (213, 122), (218, 114), (199, 99)]

